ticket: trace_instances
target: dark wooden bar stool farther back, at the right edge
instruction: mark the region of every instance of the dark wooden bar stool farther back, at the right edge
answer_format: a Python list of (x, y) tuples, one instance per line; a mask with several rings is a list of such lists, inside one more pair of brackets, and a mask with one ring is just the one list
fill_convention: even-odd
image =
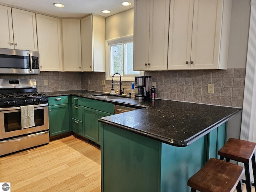
[(252, 171), (254, 182), (256, 182), (256, 164), (255, 164), (256, 143), (230, 138), (226, 144), (218, 151), (220, 160), (229, 162), (230, 159), (244, 163), (246, 191), (251, 192), (252, 184), (250, 180), (250, 161), (252, 161)]

